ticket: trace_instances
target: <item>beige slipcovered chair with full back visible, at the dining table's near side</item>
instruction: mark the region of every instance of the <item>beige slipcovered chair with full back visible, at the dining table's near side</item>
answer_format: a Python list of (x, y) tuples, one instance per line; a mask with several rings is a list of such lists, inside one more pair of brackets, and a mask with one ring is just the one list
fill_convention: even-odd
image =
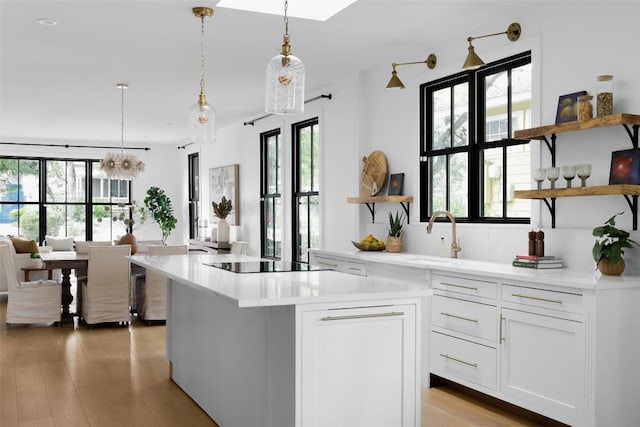
[(96, 323), (131, 322), (129, 313), (129, 245), (89, 246), (86, 280), (82, 286), (82, 317)]

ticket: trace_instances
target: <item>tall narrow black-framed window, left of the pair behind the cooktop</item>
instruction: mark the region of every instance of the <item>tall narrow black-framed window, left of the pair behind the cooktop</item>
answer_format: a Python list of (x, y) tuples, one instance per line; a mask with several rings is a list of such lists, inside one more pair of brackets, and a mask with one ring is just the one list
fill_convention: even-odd
[(282, 144), (280, 129), (260, 135), (261, 256), (282, 257)]

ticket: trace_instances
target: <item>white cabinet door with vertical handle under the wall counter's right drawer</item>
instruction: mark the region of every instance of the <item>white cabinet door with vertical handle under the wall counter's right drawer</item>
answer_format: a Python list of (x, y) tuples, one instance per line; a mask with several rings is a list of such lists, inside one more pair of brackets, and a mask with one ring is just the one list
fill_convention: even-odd
[(502, 309), (501, 390), (516, 404), (575, 424), (585, 409), (581, 322)]

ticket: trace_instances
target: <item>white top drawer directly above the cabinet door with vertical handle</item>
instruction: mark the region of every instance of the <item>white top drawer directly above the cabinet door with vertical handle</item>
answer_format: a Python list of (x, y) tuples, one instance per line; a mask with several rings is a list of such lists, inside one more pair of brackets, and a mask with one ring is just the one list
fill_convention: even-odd
[(502, 300), (568, 313), (582, 313), (582, 295), (524, 286), (502, 285)]

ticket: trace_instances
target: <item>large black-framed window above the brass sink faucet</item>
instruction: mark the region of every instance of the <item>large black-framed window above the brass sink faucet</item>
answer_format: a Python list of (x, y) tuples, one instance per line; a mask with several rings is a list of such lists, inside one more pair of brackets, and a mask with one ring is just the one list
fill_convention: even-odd
[(420, 88), (420, 220), (448, 210), (462, 221), (528, 222), (531, 53)]

